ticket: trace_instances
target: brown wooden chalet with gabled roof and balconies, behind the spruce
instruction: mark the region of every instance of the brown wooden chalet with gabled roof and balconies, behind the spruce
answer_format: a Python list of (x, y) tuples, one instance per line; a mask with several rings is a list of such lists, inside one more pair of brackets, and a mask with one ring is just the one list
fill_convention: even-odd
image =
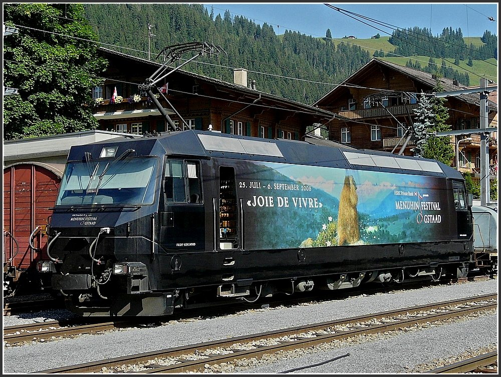
[[(441, 81), (444, 91), (466, 89), (456, 80), (441, 78)], [(357, 148), (398, 153), (405, 139), (402, 136), (415, 119), (418, 93), (433, 92), (435, 84), (436, 76), (431, 73), (373, 58), (314, 105), (342, 116), (336, 116), (329, 123), (332, 140)], [(461, 94), (446, 99), (447, 123), (452, 130), (479, 127), (479, 94)], [(487, 127), (497, 127), (497, 103), (491, 98), (487, 102)], [(451, 143), (459, 149), (459, 170), (479, 173), (480, 135), (451, 136)], [(413, 155), (413, 146), (415, 140), (411, 139), (403, 153)], [(490, 134), (489, 160), (492, 167), (497, 166), (497, 132)], [(455, 166), (456, 162), (452, 162)]]

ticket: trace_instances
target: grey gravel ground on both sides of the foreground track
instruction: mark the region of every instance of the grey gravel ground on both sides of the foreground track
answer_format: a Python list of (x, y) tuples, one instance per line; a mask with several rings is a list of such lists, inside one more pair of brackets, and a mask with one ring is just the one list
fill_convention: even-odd
[[(4, 345), (4, 373), (30, 373), (127, 354), (496, 292), (497, 279), (492, 279), (359, 295), (294, 307), (248, 310), (194, 321), (169, 321), (163, 326), (119, 329), (23, 346)], [(55, 310), (23, 314), (21, 317), (7, 316), (4, 317), (4, 326), (59, 319), (57, 315), (64, 313), (64, 310)], [(469, 349), (493, 345), (497, 349), (497, 337), (496, 311), (419, 331), (400, 331), (392, 336), (305, 353), (301, 357), (295, 354), (292, 359), (276, 359), (273, 364), (257, 364), (233, 372), (278, 373), (350, 353), (349, 356), (338, 360), (297, 372), (405, 373), (411, 371), (410, 368), (414, 365), (431, 362), (435, 358), (446, 358)]]

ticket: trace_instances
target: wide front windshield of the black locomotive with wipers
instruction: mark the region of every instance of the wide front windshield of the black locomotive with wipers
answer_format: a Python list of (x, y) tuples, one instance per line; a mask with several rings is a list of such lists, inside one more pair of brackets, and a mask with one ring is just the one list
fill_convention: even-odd
[(68, 162), (56, 205), (151, 204), (157, 159)]

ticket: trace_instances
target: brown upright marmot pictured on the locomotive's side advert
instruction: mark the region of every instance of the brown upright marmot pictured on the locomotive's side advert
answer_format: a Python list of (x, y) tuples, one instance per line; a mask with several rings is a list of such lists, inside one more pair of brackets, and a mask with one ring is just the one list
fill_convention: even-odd
[(353, 175), (347, 175), (339, 198), (338, 245), (342, 245), (345, 241), (355, 243), (360, 238), (357, 204), (357, 185)]

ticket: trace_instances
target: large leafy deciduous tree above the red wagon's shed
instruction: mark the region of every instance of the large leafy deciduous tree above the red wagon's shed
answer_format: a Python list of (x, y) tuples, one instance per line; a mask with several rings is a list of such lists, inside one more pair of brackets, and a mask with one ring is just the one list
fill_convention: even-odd
[(77, 3), (6, 4), (4, 22), (19, 33), (4, 37), (4, 138), (43, 136), (97, 127), (92, 88), (106, 60)]

